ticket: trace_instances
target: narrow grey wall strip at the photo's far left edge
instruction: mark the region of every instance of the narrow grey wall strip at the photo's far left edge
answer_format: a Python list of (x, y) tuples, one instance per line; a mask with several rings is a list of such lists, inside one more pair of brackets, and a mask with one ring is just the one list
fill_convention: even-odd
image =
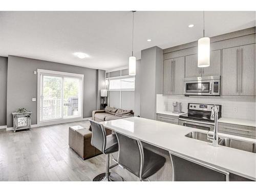
[(7, 57), (0, 57), (0, 126), (6, 125)]

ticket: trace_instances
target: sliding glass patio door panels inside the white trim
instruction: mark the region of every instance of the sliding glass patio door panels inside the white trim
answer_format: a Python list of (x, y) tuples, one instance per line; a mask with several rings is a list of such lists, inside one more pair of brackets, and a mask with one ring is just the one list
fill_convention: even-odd
[(82, 118), (83, 75), (38, 70), (38, 122)]

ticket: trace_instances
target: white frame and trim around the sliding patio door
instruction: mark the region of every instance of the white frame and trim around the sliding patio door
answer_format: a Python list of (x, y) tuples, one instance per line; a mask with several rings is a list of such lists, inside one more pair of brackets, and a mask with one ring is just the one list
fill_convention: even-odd
[[(63, 114), (62, 114), (62, 118), (59, 118), (59, 119), (40, 121), (41, 75), (59, 76), (62, 78), (64, 78), (64, 77), (73, 77), (74, 78), (75, 77), (75, 78), (80, 79), (80, 94), (79, 94), (79, 96), (81, 97), (81, 99), (80, 99), (81, 101), (79, 103), (79, 107), (81, 109), (81, 112), (80, 112), (79, 116), (63, 118)], [(37, 69), (37, 125), (38, 126), (79, 121), (79, 120), (83, 119), (83, 77), (84, 77), (83, 74)], [(63, 87), (63, 85), (61, 87)], [(63, 88), (61, 88), (61, 89), (63, 89)], [(61, 101), (61, 102), (63, 102), (63, 101)], [(63, 110), (63, 106), (62, 106), (62, 110)], [(62, 111), (62, 113), (63, 113), (63, 111)]]

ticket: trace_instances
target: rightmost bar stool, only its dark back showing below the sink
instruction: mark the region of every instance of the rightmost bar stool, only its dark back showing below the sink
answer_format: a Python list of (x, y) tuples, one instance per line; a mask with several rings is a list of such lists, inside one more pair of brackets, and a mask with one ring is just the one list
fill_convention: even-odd
[(197, 160), (169, 152), (173, 181), (229, 181), (229, 173)]

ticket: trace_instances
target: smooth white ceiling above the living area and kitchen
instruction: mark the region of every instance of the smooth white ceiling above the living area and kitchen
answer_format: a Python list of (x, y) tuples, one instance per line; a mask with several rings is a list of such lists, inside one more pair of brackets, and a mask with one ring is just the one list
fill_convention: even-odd
[[(188, 28), (194, 24), (193, 28)], [(254, 11), (207, 11), (205, 35), (255, 26)], [(202, 11), (135, 12), (134, 49), (162, 49), (202, 37)], [(148, 42), (147, 39), (152, 39)], [(94, 69), (127, 66), (132, 49), (129, 11), (1, 12), (0, 56), (16, 55)], [(79, 59), (74, 52), (90, 57)]]

